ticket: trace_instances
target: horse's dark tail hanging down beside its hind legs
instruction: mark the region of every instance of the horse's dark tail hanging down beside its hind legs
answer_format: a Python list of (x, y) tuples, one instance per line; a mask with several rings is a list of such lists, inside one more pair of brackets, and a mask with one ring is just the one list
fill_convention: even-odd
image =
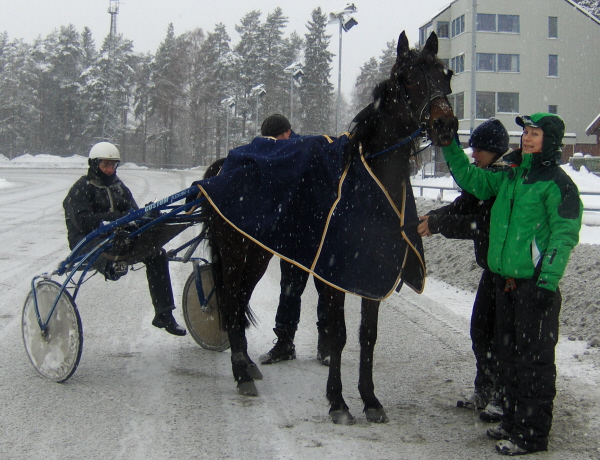
[[(223, 163), (225, 162), (225, 158), (221, 158), (211, 164), (207, 169), (203, 179), (209, 179), (211, 177), (215, 177), (219, 175), (221, 172), (221, 168), (223, 167)], [(220, 224), (225, 224), (224, 222), (218, 222), (219, 215), (214, 210), (214, 208), (205, 201), (202, 203), (201, 216), (203, 217), (203, 226), (206, 232), (206, 242), (210, 251), (210, 259), (212, 265), (213, 272), (213, 280), (215, 283), (215, 288), (217, 290), (217, 298), (223, 298), (223, 292), (225, 290), (225, 280), (224, 280), (224, 270), (223, 259), (221, 257), (221, 248), (219, 247), (218, 238), (216, 238), (217, 226)], [(230, 324), (233, 320), (228, 314), (228, 312), (223, 311), (223, 305), (220, 305), (222, 319), (225, 324), (225, 328), (229, 330), (231, 327), (235, 327), (233, 324)], [(247, 329), (250, 325), (257, 325), (256, 317), (252, 310), (250, 309), (250, 304), (248, 303), (244, 309), (244, 317), (242, 320), (241, 327)]]

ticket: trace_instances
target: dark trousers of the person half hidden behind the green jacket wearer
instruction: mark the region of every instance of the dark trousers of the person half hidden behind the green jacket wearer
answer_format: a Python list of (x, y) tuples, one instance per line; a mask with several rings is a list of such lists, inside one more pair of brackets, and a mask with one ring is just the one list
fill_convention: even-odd
[(471, 313), (471, 342), (477, 366), (475, 391), (487, 399), (491, 398), (495, 391), (495, 324), (496, 285), (494, 274), (490, 270), (484, 270), (479, 280)]

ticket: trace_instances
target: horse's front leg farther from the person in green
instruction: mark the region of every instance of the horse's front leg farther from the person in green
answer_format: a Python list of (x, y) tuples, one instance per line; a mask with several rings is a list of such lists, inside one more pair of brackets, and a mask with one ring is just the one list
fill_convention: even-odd
[(329, 415), (333, 423), (351, 425), (354, 417), (342, 396), (342, 351), (346, 345), (346, 321), (344, 318), (344, 293), (327, 286), (324, 292), (329, 318), (330, 362), (327, 379)]

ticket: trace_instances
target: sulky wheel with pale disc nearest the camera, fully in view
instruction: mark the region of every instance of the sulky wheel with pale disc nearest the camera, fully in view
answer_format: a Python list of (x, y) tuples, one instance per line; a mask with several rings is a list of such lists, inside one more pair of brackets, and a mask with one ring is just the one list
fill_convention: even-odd
[[(61, 286), (55, 281), (43, 280), (34, 289), (39, 314), (42, 323), (45, 323)], [(33, 292), (30, 291), (23, 305), (21, 327), (25, 351), (36, 371), (59, 383), (73, 375), (83, 349), (83, 328), (75, 302), (66, 290), (60, 294), (43, 332), (37, 320)]]

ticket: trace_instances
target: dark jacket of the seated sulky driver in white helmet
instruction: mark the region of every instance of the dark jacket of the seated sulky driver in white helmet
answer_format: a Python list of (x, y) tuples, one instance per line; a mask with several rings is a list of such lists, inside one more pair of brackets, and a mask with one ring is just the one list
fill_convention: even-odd
[(113, 221), (139, 209), (131, 191), (116, 174), (102, 181), (91, 168), (71, 187), (63, 208), (71, 249), (103, 221)]

